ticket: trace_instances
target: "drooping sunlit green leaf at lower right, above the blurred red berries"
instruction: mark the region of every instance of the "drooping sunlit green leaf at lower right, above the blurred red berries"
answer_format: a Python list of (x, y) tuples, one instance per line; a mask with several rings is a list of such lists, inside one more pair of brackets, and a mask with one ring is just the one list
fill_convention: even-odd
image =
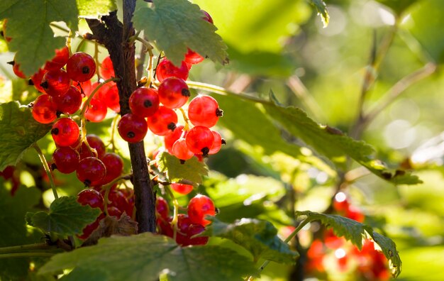
[(387, 260), (389, 260), (392, 275), (397, 277), (401, 273), (402, 263), (395, 243), (390, 238), (374, 232), (372, 227), (338, 215), (320, 214), (312, 211), (296, 211), (295, 214), (296, 219), (299, 216), (306, 216), (305, 222), (321, 221), (321, 224), (328, 228), (333, 228), (336, 236), (344, 236), (345, 239), (351, 241), (359, 249), (362, 248), (362, 239), (370, 236), (382, 249), (382, 253), (384, 253)]

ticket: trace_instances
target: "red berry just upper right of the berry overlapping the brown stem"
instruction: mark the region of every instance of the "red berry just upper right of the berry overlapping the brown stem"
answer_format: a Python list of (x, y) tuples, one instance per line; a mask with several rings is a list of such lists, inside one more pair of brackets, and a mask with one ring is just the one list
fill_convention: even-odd
[(159, 106), (156, 113), (147, 118), (148, 128), (157, 136), (165, 136), (174, 131), (177, 123), (177, 114), (165, 106)]

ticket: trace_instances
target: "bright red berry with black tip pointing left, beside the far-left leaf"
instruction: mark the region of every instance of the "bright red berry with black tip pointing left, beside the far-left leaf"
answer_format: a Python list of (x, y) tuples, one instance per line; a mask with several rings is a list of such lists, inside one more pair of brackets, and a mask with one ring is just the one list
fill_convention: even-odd
[(51, 136), (56, 145), (73, 145), (79, 138), (79, 126), (70, 118), (61, 118), (52, 125)]

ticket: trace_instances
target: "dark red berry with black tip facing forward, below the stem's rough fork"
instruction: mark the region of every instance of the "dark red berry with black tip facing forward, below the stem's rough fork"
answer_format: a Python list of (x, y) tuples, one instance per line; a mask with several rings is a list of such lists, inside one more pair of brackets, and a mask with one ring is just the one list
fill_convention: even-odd
[(87, 53), (75, 53), (68, 60), (66, 70), (72, 80), (85, 82), (96, 73), (96, 62)]

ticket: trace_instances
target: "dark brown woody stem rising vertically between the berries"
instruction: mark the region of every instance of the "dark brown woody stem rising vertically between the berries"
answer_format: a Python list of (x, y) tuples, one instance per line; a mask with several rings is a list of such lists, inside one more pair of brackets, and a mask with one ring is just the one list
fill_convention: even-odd
[[(120, 98), (121, 115), (131, 113), (128, 99), (136, 89), (135, 45), (129, 38), (135, 34), (131, 19), (135, 9), (135, 0), (123, 1), (123, 23), (118, 21), (116, 11), (102, 16), (101, 21), (87, 19), (89, 28), (99, 43), (108, 49), (114, 72), (120, 80), (116, 83)], [(136, 221), (139, 232), (155, 232), (155, 194), (148, 173), (143, 142), (129, 143), (131, 167), (133, 168), (133, 186), (135, 194)]]

